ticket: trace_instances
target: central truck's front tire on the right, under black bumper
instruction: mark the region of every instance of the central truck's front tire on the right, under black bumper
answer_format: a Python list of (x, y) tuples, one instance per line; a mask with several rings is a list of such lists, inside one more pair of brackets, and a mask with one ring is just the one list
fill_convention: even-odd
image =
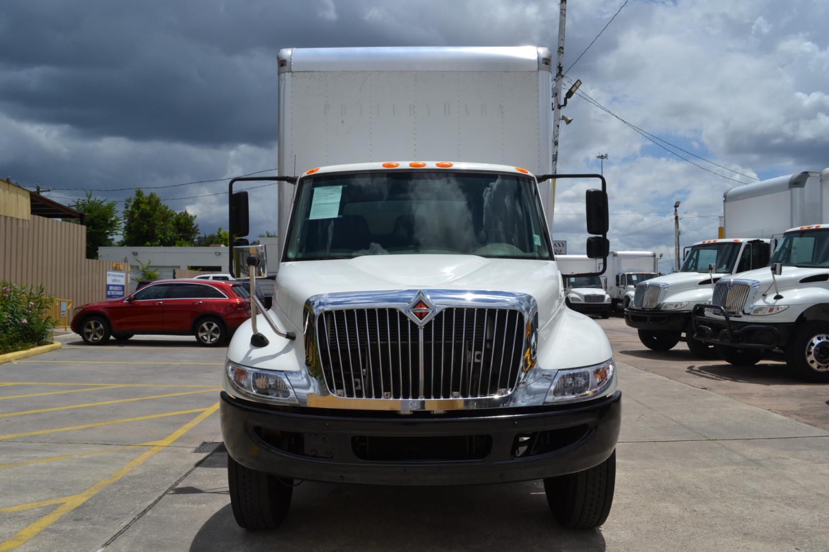
[(616, 451), (594, 468), (545, 478), (544, 492), (555, 521), (570, 529), (593, 529), (608, 519), (616, 486)]

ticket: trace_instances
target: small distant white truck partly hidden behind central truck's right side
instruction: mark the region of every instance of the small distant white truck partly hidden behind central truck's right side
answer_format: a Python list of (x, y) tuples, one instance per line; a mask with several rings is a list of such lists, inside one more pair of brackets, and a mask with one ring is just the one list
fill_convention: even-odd
[[(608, 257), (609, 258), (609, 257)], [(557, 255), (555, 262), (559, 265), (565, 285), (565, 303), (570, 309), (584, 314), (599, 314), (608, 318), (613, 310), (610, 295), (604, 290), (603, 276), (570, 276), (574, 274), (604, 271), (603, 259), (591, 259), (587, 255)]]

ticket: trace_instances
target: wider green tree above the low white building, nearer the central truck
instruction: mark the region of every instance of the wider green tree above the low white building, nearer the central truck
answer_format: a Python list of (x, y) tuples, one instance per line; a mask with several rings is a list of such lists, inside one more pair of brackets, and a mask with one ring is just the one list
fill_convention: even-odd
[(135, 190), (124, 202), (124, 240), (126, 246), (191, 246), (198, 236), (196, 216), (177, 213), (163, 204), (155, 192)]

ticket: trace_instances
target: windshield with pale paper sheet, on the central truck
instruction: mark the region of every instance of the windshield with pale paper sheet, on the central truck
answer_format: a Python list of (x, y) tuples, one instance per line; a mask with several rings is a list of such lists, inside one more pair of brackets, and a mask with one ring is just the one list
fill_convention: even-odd
[(300, 181), (288, 261), (447, 253), (551, 260), (535, 180), (395, 170)]

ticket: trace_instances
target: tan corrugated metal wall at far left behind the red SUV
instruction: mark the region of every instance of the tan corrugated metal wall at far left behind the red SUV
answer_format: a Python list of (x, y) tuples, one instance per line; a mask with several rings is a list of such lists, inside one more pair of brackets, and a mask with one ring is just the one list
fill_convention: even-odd
[(106, 298), (114, 262), (86, 257), (86, 227), (32, 215), (0, 215), (0, 280), (36, 286), (75, 306)]

